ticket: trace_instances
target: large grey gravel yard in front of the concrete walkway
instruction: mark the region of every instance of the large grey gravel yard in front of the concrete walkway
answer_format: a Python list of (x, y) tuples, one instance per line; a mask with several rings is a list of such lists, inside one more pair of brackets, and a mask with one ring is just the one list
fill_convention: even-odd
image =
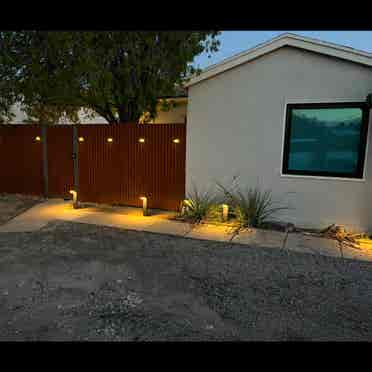
[(372, 340), (372, 263), (53, 222), (0, 234), (0, 340)]

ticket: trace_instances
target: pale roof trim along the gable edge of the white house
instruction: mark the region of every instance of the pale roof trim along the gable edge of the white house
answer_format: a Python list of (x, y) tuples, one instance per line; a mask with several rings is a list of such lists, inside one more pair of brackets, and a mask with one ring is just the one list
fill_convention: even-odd
[(200, 81), (209, 79), (284, 46), (300, 48), (372, 67), (372, 53), (291, 33), (285, 33), (265, 43), (259, 44), (254, 48), (248, 49), (247, 51), (226, 58), (219, 63), (207, 67), (201, 74), (191, 77), (184, 86), (188, 88)]

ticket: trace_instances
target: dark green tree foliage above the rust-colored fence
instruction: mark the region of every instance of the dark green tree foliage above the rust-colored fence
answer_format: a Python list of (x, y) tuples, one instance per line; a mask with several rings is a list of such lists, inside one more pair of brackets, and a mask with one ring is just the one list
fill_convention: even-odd
[(171, 95), (202, 52), (218, 50), (218, 32), (0, 32), (0, 113), (21, 102), (39, 121), (79, 109), (110, 123), (156, 115), (157, 98)]

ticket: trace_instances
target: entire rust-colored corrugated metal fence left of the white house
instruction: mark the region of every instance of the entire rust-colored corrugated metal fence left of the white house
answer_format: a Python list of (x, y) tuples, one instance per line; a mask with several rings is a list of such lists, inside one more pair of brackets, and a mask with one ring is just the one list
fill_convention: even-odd
[(0, 192), (177, 210), (185, 158), (185, 124), (1, 125)]

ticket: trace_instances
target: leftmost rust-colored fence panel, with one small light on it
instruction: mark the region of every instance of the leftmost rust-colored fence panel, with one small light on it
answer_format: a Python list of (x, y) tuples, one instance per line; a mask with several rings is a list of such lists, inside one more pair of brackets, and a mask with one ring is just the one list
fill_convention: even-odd
[(40, 126), (0, 126), (0, 192), (43, 195), (42, 141)]

